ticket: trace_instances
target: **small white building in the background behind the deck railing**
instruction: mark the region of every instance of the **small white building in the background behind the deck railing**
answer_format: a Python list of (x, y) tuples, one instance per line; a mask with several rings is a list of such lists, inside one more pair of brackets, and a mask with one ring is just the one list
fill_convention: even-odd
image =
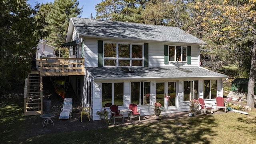
[(50, 46), (48, 44), (46, 44), (43, 41), (40, 41), (37, 44), (37, 50), (36, 50), (36, 58), (40, 58), (40, 56), (42, 57), (53, 57), (54, 56), (54, 46)]

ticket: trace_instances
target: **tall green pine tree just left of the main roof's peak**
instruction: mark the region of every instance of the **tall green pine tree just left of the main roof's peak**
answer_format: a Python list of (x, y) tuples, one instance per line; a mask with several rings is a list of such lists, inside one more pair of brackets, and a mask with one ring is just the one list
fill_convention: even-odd
[(51, 11), (46, 16), (48, 23), (46, 30), (49, 31), (49, 36), (46, 38), (48, 44), (58, 48), (66, 41), (70, 17), (79, 17), (82, 13), (82, 8), (78, 6), (77, 0), (54, 1)]

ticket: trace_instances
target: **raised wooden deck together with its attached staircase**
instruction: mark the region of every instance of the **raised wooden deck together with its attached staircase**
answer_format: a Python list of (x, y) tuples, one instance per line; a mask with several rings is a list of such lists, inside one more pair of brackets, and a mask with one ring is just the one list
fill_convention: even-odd
[(83, 76), (84, 58), (40, 58), (25, 80), (24, 115), (43, 114), (43, 76)]

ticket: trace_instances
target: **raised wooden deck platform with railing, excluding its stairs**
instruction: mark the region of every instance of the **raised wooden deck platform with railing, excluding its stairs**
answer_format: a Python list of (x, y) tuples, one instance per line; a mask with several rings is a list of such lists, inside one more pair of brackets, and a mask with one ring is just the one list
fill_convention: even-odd
[(84, 75), (84, 58), (40, 58), (37, 66), (40, 76)]

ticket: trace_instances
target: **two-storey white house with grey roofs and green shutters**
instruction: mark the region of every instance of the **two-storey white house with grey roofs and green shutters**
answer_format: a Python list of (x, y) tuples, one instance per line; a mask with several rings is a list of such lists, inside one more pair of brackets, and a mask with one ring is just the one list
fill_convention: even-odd
[(99, 120), (96, 112), (109, 104), (135, 103), (141, 115), (153, 114), (154, 102), (162, 114), (189, 111), (192, 99), (214, 104), (228, 76), (200, 67), (205, 44), (177, 27), (72, 17), (63, 46), (84, 58), (84, 76), (71, 84)]

